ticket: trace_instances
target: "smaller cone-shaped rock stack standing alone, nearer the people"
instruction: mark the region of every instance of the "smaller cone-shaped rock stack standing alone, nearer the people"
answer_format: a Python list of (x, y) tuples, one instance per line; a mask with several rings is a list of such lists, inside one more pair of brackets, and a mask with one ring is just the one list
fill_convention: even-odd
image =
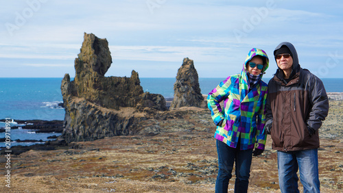
[(179, 107), (204, 107), (198, 73), (194, 68), (193, 60), (189, 60), (188, 57), (183, 59), (182, 66), (178, 69), (174, 83), (174, 99), (170, 109)]

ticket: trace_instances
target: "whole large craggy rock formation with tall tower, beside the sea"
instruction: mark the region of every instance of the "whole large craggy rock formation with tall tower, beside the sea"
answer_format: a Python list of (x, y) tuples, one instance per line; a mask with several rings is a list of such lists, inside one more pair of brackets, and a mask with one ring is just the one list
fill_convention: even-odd
[(131, 77), (105, 77), (111, 63), (107, 40), (85, 33), (75, 79), (66, 74), (61, 83), (66, 112), (61, 137), (68, 143), (128, 135), (132, 125), (167, 109), (161, 94), (143, 92), (134, 70)]

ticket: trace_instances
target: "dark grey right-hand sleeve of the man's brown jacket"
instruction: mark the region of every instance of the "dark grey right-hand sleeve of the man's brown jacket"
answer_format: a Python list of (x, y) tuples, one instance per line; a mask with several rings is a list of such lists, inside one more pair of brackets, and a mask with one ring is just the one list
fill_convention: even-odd
[(309, 100), (312, 107), (307, 125), (314, 130), (318, 130), (329, 113), (329, 99), (324, 84), (314, 75), (311, 77), (309, 86)]

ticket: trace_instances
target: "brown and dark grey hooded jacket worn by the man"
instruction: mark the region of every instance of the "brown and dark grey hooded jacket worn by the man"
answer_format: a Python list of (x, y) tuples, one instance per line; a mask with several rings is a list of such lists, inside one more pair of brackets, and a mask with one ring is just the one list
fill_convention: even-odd
[[(329, 112), (329, 99), (322, 81), (300, 68), (293, 44), (282, 42), (292, 52), (292, 73), (286, 81), (280, 68), (268, 83), (267, 125), (272, 125), (272, 149), (299, 151), (319, 147), (318, 129)], [(314, 135), (310, 135), (309, 129)]]

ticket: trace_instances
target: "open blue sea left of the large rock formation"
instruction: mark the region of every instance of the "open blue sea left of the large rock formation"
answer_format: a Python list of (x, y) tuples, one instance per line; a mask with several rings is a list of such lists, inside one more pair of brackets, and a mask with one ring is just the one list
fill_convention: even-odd
[(63, 120), (59, 78), (0, 78), (0, 119)]

